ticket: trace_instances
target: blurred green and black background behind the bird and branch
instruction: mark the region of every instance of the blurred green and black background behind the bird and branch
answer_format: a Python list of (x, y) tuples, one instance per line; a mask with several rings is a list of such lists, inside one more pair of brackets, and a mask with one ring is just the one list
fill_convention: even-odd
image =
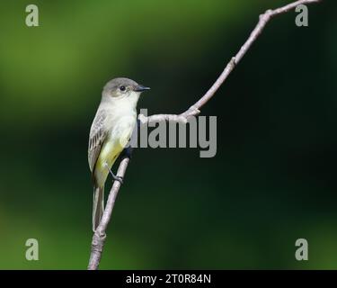
[[(258, 15), (288, 1), (2, 1), (0, 268), (84, 269), (90, 125), (102, 85), (151, 86), (138, 108), (182, 112)], [(40, 27), (25, 25), (38, 4)], [(102, 269), (337, 268), (337, 3), (272, 20), (203, 109), (217, 156), (134, 151)], [(109, 182), (111, 185), (111, 182)], [(25, 259), (37, 238), (40, 260)], [(295, 241), (309, 242), (297, 262)]]

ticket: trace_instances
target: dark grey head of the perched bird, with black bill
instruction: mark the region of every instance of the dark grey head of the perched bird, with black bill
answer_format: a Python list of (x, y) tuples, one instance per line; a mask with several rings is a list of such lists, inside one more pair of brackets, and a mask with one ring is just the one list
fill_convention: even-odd
[(104, 86), (103, 94), (111, 97), (120, 97), (133, 93), (140, 94), (149, 89), (149, 87), (139, 85), (129, 78), (114, 78)]

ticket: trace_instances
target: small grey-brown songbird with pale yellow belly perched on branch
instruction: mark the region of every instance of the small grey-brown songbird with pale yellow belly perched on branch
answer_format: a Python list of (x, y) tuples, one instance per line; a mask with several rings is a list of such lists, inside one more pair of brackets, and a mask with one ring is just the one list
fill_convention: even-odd
[(104, 184), (111, 167), (126, 147), (137, 123), (139, 95), (150, 88), (128, 78), (115, 78), (103, 88), (102, 100), (90, 130), (88, 161), (93, 175), (93, 231), (104, 211)]

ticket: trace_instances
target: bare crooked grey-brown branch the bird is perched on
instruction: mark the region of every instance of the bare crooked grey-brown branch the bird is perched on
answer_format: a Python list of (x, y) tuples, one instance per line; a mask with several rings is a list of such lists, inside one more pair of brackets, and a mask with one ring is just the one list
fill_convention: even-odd
[[(270, 21), (271, 18), (279, 14), (288, 13), (289, 11), (296, 8), (297, 5), (299, 4), (311, 4), (321, 1), (322, 0), (299, 0), (274, 10), (267, 10), (264, 14), (260, 15), (259, 22), (251, 32), (250, 36), (244, 42), (244, 45), (241, 47), (241, 49), (236, 53), (235, 57), (231, 58), (231, 60), (228, 62), (224, 71), (217, 78), (217, 81), (208, 89), (208, 92), (204, 94), (196, 103), (191, 105), (189, 109), (187, 109), (185, 112), (182, 112), (181, 114), (156, 114), (148, 117), (140, 114), (138, 116), (139, 121), (143, 124), (158, 121), (186, 122), (191, 116), (198, 115), (200, 113), (200, 108), (206, 103), (208, 103), (209, 99), (211, 99), (214, 96), (214, 94), (216, 94), (217, 89), (226, 81), (226, 78), (233, 71), (233, 69), (240, 62), (240, 60), (244, 57), (244, 54), (247, 52), (247, 50), (251, 48), (253, 42), (257, 40), (257, 38), (262, 33), (264, 27)], [(124, 157), (120, 162), (117, 175), (124, 177), (128, 165), (129, 165), (129, 157)], [(109, 221), (111, 220), (111, 213), (119, 190), (120, 190), (120, 182), (115, 181), (112, 184), (101, 223), (93, 234), (92, 249), (88, 266), (89, 270), (98, 269), (98, 266), (100, 264), (102, 257), (102, 249), (104, 247), (104, 242), (106, 238), (105, 231), (108, 227)]]

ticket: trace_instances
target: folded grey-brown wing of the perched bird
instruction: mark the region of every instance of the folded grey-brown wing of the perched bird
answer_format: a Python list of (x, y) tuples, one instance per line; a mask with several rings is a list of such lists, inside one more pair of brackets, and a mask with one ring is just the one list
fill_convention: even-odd
[(105, 130), (105, 121), (107, 119), (107, 112), (101, 110), (97, 112), (96, 117), (93, 120), (93, 125), (90, 130), (89, 136), (89, 148), (88, 148), (88, 161), (90, 170), (93, 172), (93, 167), (96, 164), (97, 158), (100, 155), (102, 145), (107, 136), (107, 130)]

